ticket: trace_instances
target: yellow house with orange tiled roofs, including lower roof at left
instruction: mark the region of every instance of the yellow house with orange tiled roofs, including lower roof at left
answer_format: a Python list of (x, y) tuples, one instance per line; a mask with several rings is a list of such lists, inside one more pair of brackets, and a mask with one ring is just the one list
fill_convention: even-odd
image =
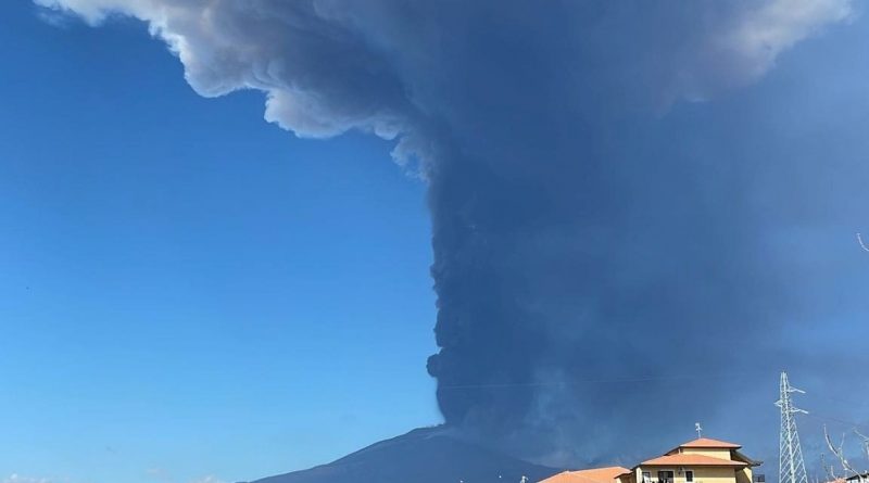
[(752, 483), (752, 469), (760, 461), (740, 449), (738, 444), (701, 437), (630, 470), (607, 467), (565, 471), (540, 483)]

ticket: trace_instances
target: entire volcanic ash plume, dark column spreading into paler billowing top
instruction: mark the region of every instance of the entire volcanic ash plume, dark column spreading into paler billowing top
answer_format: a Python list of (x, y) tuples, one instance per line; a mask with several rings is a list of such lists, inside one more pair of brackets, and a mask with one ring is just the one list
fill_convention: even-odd
[(429, 183), (445, 421), (521, 456), (663, 449), (696, 419), (751, 443), (726, 423), (774, 421), (780, 364), (824, 355), (786, 334), (866, 313), (806, 280), (840, 256), (782, 254), (862, 221), (866, 169), (734, 93), (847, 0), (37, 1), (147, 22), (197, 92), (262, 90), (299, 136), (394, 139)]

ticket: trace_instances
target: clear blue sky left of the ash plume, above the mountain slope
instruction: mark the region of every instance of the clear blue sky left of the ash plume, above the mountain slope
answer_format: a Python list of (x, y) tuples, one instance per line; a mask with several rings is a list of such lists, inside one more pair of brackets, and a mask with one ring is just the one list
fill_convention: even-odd
[(388, 143), (203, 99), (134, 22), (4, 1), (0, 60), (0, 481), (250, 480), (439, 422)]

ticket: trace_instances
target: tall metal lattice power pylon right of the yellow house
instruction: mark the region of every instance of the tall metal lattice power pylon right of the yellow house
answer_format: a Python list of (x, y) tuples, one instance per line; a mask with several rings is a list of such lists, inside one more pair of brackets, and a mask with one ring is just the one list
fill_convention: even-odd
[(781, 373), (779, 384), (779, 401), (776, 406), (781, 408), (781, 433), (779, 434), (779, 483), (808, 483), (806, 463), (803, 460), (803, 449), (799, 446), (799, 434), (796, 432), (794, 415), (808, 411), (799, 409), (791, 402), (791, 393), (805, 394), (791, 386), (788, 373)]

